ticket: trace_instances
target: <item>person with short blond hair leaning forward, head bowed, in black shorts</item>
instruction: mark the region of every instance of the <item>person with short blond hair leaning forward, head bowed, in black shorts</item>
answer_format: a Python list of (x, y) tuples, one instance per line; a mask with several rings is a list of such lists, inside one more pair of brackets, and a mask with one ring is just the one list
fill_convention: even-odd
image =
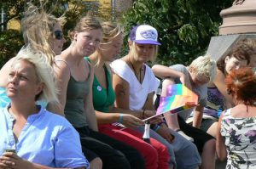
[[(166, 123), (169, 128), (177, 131), (184, 138), (193, 141), (201, 153), (201, 168), (215, 168), (215, 140), (199, 129), (203, 108), (207, 104), (207, 82), (210, 82), (216, 74), (216, 63), (210, 56), (200, 56), (186, 67), (185, 65), (154, 65), (152, 67), (155, 76), (163, 78), (160, 96), (166, 96), (167, 86), (183, 82), (198, 95), (199, 105), (195, 109), (183, 110), (175, 115), (165, 114)], [(172, 76), (173, 71), (179, 76)], [(194, 111), (193, 127), (186, 123), (189, 115)]]

